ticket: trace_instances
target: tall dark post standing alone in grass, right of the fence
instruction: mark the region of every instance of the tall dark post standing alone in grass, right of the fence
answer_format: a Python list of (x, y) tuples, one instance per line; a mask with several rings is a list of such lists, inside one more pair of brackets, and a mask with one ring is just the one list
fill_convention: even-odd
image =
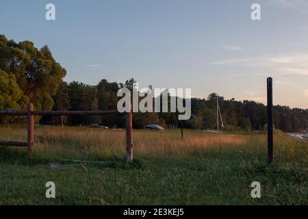
[(268, 77), (268, 164), (273, 161), (273, 110), (272, 110), (272, 77)]

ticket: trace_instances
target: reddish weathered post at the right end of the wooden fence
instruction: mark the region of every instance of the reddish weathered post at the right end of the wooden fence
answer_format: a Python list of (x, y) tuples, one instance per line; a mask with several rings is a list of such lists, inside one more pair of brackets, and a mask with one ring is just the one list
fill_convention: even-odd
[(126, 153), (127, 161), (133, 161), (133, 115), (131, 112), (131, 104), (129, 112), (126, 113)]

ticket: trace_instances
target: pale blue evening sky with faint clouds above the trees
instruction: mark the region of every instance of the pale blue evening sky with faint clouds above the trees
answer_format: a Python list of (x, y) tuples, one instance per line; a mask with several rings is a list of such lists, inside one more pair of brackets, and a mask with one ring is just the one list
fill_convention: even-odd
[[(45, 19), (55, 4), (56, 20)], [(251, 5), (261, 5), (261, 21)], [(134, 77), (141, 87), (192, 88), (227, 99), (308, 108), (307, 0), (0, 0), (0, 34), (47, 44), (65, 81)]]

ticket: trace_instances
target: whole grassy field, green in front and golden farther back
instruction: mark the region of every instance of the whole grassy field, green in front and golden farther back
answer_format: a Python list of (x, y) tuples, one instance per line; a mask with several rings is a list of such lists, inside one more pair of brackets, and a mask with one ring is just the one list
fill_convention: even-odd
[[(266, 164), (264, 133), (134, 130), (125, 162), (125, 130), (35, 127), (34, 157), (0, 148), (0, 205), (307, 205), (308, 141), (274, 135)], [(0, 140), (26, 141), (25, 127), (0, 127)], [(66, 159), (101, 161), (70, 168)], [(56, 198), (45, 183), (55, 182)], [(251, 183), (261, 198), (251, 198)]]

